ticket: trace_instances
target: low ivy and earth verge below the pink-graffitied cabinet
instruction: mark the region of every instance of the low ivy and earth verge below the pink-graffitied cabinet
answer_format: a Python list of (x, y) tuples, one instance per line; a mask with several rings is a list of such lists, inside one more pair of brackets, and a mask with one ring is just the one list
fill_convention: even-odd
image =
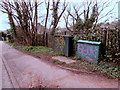
[[(53, 63), (62, 65), (64, 67), (75, 69), (79, 72), (88, 72), (88, 73), (101, 73), (104, 76), (109, 78), (118, 79), (120, 76), (119, 66), (114, 63), (107, 63), (101, 61), (99, 64), (93, 64), (86, 60), (77, 60), (77, 62), (72, 64), (66, 64), (65, 62), (61, 62), (59, 60), (52, 60)], [(73, 70), (74, 71), (74, 70)]]

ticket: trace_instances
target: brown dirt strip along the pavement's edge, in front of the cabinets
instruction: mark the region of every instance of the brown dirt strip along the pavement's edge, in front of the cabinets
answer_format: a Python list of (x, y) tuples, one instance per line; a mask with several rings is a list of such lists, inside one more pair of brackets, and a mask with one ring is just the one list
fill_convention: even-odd
[[(21, 51), (21, 50), (20, 50)], [(101, 77), (106, 77), (106, 78), (111, 78), (108, 77), (104, 74), (102, 74), (101, 72), (95, 70), (95, 66), (87, 63), (87, 61), (84, 60), (77, 60), (74, 63), (71, 64), (66, 64), (65, 62), (61, 62), (59, 60), (53, 60), (52, 57), (55, 56), (52, 53), (33, 53), (33, 52), (26, 52), (26, 51), (22, 51), (23, 53), (26, 53), (28, 55), (31, 55), (33, 57), (39, 58), (41, 59), (43, 62), (46, 62), (48, 64), (51, 65), (55, 65), (55, 66), (60, 66), (60, 68), (72, 71), (76, 74), (91, 74), (91, 75), (97, 75), (97, 76), (101, 76)]]

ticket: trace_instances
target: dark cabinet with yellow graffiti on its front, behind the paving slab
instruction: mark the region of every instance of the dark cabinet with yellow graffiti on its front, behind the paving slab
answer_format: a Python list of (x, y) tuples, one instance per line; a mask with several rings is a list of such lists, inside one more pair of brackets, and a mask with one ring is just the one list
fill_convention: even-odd
[(72, 56), (73, 54), (73, 37), (67, 35), (54, 36), (53, 50), (55, 52), (62, 52), (65, 56)]

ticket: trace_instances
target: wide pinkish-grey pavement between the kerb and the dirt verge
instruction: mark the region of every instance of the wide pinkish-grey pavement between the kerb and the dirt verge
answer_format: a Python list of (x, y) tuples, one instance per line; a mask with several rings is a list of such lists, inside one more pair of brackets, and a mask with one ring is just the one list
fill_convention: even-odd
[(26, 55), (3, 42), (0, 44), (3, 45), (2, 55), (21, 88), (41, 86), (51, 88), (118, 88), (118, 80), (98, 75), (75, 74)]

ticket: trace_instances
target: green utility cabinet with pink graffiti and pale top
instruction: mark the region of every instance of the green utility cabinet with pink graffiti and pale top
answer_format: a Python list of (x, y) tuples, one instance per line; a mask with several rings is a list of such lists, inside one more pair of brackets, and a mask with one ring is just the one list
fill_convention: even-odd
[(77, 41), (77, 56), (82, 59), (97, 63), (101, 57), (102, 43), (87, 40)]

